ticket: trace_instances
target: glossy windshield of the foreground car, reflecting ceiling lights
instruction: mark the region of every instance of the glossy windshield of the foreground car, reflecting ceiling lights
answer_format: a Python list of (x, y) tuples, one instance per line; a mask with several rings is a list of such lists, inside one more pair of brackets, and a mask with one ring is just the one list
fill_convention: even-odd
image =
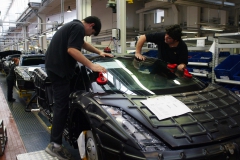
[[(161, 95), (190, 92), (206, 87), (196, 78), (184, 77), (183, 72), (170, 71), (167, 63), (155, 58), (137, 61), (133, 57), (97, 59), (95, 63), (104, 66), (108, 72), (105, 92), (130, 95)], [(99, 90), (99, 87), (98, 87)]]

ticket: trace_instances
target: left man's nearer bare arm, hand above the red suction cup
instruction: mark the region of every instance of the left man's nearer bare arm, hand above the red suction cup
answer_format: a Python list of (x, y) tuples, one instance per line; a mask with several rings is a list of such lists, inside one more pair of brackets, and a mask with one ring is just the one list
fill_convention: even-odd
[(107, 70), (104, 67), (98, 64), (92, 63), (82, 54), (82, 52), (80, 52), (75, 48), (68, 48), (68, 54), (70, 54), (75, 60), (82, 63), (86, 67), (90, 68), (94, 72), (103, 72), (103, 73), (107, 72)]

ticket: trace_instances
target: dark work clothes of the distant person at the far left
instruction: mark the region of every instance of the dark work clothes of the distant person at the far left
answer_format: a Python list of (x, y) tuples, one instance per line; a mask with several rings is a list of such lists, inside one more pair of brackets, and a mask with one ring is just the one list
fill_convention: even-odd
[(11, 101), (13, 99), (13, 87), (16, 81), (16, 75), (14, 72), (14, 68), (16, 67), (16, 64), (11, 65), (11, 69), (7, 75), (7, 100)]

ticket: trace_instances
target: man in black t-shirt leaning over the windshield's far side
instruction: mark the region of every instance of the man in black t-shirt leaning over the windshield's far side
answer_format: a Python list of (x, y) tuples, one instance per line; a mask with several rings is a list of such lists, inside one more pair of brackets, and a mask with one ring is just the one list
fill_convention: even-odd
[(145, 60), (146, 57), (141, 54), (141, 49), (145, 42), (152, 42), (158, 47), (159, 59), (177, 64), (177, 69), (183, 71), (188, 64), (188, 49), (181, 36), (182, 29), (179, 25), (167, 27), (165, 33), (141, 35), (136, 44), (135, 57)]

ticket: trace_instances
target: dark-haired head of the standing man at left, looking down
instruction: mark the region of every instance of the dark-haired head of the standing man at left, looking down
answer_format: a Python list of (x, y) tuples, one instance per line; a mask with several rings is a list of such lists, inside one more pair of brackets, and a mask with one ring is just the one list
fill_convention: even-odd
[(97, 36), (101, 31), (101, 21), (98, 17), (89, 16), (83, 19), (85, 27), (85, 36)]

